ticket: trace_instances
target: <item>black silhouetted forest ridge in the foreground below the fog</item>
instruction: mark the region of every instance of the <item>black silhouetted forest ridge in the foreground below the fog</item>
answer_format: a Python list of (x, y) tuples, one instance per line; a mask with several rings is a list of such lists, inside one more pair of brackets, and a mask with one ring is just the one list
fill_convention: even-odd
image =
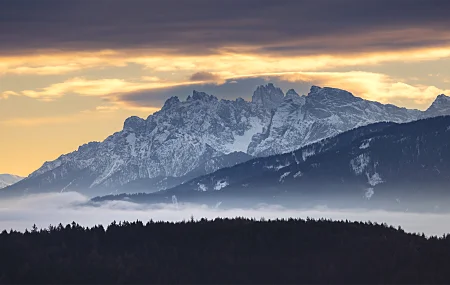
[(447, 285), (449, 266), (448, 237), (372, 223), (73, 223), (0, 234), (3, 285)]

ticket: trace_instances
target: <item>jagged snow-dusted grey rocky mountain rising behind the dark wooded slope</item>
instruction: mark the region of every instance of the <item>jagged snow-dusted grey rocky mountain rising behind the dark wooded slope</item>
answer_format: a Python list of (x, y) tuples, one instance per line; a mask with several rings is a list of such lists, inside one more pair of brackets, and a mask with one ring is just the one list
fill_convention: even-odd
[(128, 118), (122, 131), (103, 142), (85, 144), (44, 163), (10, 190), (76, 190), (88, 195), (157, 191), (252, 157), (290, 152), (359, 126), (446, 114), (450, 109), (440, 102), (441, 96), (421, 112), (317, 86), (307, 96), (292, 89), (284, 95), (273, 84), (259, 86), (251, 102), (219, 100), (194, 91), (185, 101), (169, 98), (147, 119)]

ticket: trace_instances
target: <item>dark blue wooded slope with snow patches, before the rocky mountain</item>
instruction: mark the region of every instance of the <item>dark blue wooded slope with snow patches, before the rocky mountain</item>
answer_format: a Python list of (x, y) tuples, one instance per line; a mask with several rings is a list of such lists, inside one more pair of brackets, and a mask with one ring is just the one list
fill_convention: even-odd
[(450, 117), (445, 116), (360, 127), (290, 153), (221, 169), (166, 191), (95, 201), (126, 198), (156, 203), (176, 195), (178, 201), (187, 202), (248, 199), (253, 204), (433, 210), (448, 207), (448, 185)]

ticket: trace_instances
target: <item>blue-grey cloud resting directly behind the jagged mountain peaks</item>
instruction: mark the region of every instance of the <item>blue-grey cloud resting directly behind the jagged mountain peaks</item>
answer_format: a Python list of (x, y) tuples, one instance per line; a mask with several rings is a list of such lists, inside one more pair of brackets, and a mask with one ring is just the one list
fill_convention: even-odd
[(279, 86), (284, 92), (288, 89), (295, 89), (299, 94), (307, 94), (311, 83), (308, 82), (288, 82), (279, 77), (255, 77), (243, 79), (230, 79), (223, 84), (195, 84), (162, 89), (144, 90), (122, 94), (118, 100), (131, 106), (139, 107), (162, 107), (167, 98), (178, 96), (181, 100), (192, 94), (193, 90), (212, 94), (220, 99), (234, 100), (238, 97), (251, 100), (253, 91), (258, 85), (269, 82)]

